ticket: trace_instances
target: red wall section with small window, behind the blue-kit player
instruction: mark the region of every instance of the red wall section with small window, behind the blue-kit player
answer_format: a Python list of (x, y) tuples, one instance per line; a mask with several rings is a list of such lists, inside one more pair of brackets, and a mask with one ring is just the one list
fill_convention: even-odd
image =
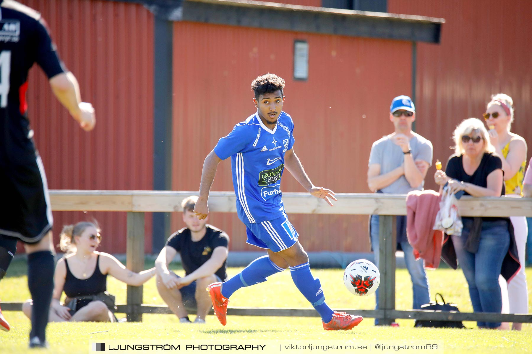
[[(315, 185), (369, 192), (371, 143), (393, 129), (389, 104), (411, 93), (410, 42), (174, 23), (172, 188), (196, 190), (205, 156), (221, 136), (253, 114), (251, 81), (266, 72), (286, 80), (284, 109), (295, 122), (294, 151)], [(293, 80), (294, 40), (310, 46), (309, 80)], [(287, 172), (282, 190), (304, 192)], [(213, 191), (232, 191), (229, 159)], [(290, 215), (307, 251), (368, 251), (367, 217)], [(215, 213), (232, 251), (245, 244), (236, 214)], [(174, 215), (172, 228), (182, 226)]]

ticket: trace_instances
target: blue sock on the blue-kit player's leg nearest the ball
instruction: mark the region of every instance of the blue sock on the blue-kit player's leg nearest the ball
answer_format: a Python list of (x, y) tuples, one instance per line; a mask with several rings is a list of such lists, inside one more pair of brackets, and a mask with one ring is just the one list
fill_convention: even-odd
[(289, 268), (290, 275), (292, 275), (292, 280), (294, 280), (297, 289), (301, 291), (303, 296), (318, 311), (321, 320), (329, 323), (334, 311), (325, 303), (325, 295), (323, 294), (320, 280), (312, 277), (309, 262)]

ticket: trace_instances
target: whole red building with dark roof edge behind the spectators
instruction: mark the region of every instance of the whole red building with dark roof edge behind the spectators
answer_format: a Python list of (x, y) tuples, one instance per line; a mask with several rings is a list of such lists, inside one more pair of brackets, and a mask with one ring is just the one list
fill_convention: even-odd
[[(383, 13), (309, 7), (326, 4), (319, 0), (22, 2), (43, 13), (82, 99), (97, 113), (95, 131), (82, 132), (44, 75), (32, 71), (29, 117), (51, 189), (197, 190), (204, 157), (253, 113), (250, 83), (265, 72), (287, 82), (284, 109), (309, 176), (335, 192), (368, 192), (371, 143), (391, 131), (388, 107), (399, 94), (414, 97), (416, 129), (440, 160), (450, 153), (453, 126), (479, 117), (491, 93), (514, 98), (516, 131), (532, 137), (522, 119), (532, 108), (532, 54), (521, 34), (531, 32), (526, 0), (510, 1), (498, 22), (500, 11), (480, 1), (380, 1)], [(296, 41), (308, 48), (306, 80), (294, 77)], [(285, 192), (303, 192), (289, 174), (282, 183)], [(229, 161), (212, 189), (232, 190)], [(64, 223), (96, 218), (103, 249), (125, 251), (124, 213), (54, 218), (55, 237)], [(367, 217), (290, 218), (307, 251), (369, 250)], [(210, 222), (232, 236), (231, 251), (253, 249), (236, 215), (212, 214)], [(178, 214), (154, 214), (153, 222), (150, 215), (146, 252), (181, 226)]]

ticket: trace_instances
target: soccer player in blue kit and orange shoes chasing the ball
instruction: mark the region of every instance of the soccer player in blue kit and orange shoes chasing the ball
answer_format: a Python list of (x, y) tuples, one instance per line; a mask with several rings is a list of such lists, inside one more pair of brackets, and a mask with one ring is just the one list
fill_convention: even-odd
[(251, 88), (255, 93), (253, 102), (257, 111), (235, 125), (205, 158), (194, 212), (199, 219), (207, 217), (207, 199), (218, 163), (231, 157), (237, 212), (246, 225), (246, 242), (265, 248), (268, 255), (257, 258), (235, 277), (207, 287), (214, 313), (220, 323), (226, 325), (227, 305), (232, 293), (262, 283), (270, 275), (289, 267), (297, 289), (320, 314), (323, 329), (350, 330), (362, 321), (362, 317), (333, 311), (325, 303), (320, 281), (312, 276), (309, 257), (297, 240), (299, 235), (288, 221), (282, 205), (282, 171), (286, 167), (310, 194), (325, 199), (330, 205), (331, 199), (336, 200), (334, 192), (314, 186), (294, 152), (294, 122), (282, 111), (285, 80), (268, 73), (257, 77)]

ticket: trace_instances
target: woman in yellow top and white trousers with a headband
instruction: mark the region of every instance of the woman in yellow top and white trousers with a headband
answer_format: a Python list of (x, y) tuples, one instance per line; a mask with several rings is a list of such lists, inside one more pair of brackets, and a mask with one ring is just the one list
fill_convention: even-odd
[[(495, 152), (502, 160), (506, 195), (522, 196), (523, 178), (527, 165), (527, 143), (516, 133), (510, 132), (513, 122), (513, 100), (504, 93), (494, 94), (484, 113), (489, 128), (489, 140), (495, 146)], [(519, 262), (525, 264), (525, 247), (528, 237), (528, 226), (525, 217), (510, 217), (516, 235)], [(500, 278), (503, 294), (503, 313), (528, 313), (528, 289), (525, 267), (512, 281)], [(506, 289), (508, 287), (508, 290)], [(514, 323), (514, 330), (521, 330), (521, 323)]]

